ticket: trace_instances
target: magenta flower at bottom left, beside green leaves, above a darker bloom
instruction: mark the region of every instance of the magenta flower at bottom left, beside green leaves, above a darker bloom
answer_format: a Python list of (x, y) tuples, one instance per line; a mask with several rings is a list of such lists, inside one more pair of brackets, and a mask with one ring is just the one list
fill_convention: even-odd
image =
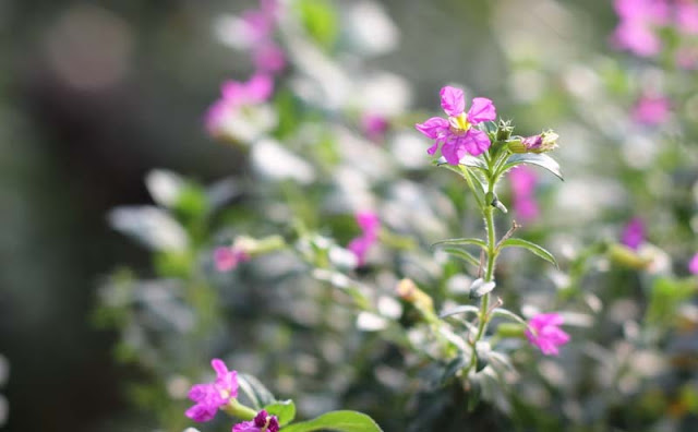
[(196, 404), (184, 415), (194, 421), (213, 419), (218, 408), (238, 397), (238, 372), (228, 371), (226, 364), (219, 359), (213, 359), (210, 365), (216, 371), (216, 381), (195, 384), (189, 391), (189, 398)]

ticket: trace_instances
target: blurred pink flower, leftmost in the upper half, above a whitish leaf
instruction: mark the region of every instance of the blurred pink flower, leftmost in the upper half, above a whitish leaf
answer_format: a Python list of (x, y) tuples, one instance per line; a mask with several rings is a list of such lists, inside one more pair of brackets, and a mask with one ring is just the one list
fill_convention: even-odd
[(245, 106), (266, 101), (274, 91), (274, 81), (264, 73), (253, 75), (246, 83), (226, 81), (220, 87), (221, 97), (206, 112), (206, 130), (213, 136), (219, 136), (226, 122), (237, 117)]

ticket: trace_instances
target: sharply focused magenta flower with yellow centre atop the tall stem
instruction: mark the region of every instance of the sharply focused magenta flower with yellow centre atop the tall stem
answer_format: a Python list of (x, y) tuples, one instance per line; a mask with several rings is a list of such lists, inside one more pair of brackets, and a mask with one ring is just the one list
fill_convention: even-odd
[(484, 97), (472, 99), (472, 106), (466, 113), (466, 99), (459, 88), (446, 86), (441, 89), (441, 106), (448, 119), (432, 117), (414, 127), (426, 137), (434, 140), (434, 145), (426, 152), (441, 153), (450, 165), (458, 161), (467, 153), (479, 156), (490, 148), (490, 137), (479, 129), (472, 128), (483, 121), (496, 119), (497, 113), (492, 100)]

